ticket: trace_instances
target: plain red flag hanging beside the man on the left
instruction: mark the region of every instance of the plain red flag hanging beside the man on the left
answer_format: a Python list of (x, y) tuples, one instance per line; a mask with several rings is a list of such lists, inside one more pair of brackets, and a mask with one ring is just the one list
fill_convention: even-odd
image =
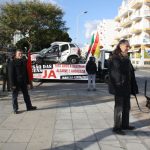
[(31, 62), (30, 50), (28, 50), (27, 71), (28, 71), (29, 81), (31, 82), (33, 80), (33, 73), (32, 73), (32, 62)]

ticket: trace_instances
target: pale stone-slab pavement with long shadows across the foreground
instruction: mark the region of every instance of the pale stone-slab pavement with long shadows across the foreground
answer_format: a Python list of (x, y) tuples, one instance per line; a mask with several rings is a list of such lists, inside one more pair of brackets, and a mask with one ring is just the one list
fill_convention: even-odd
[(26, 111), (20, 94), (20, 114), (12, 113), (10, 93), (0, 97), (0, 150), (150, 150), (150, 113), (143, 116), (132, 100), (130, 122), (136, 130), (116, 135), (107, 85), (99, 83), (90, 92), (86, 87), (44, 83), (30, 91), (36, 111)]

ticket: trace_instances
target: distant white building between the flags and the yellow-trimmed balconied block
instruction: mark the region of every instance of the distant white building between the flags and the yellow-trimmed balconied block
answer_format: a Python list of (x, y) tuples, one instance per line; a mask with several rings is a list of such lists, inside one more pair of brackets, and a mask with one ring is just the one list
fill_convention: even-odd
[(116, 34), (117, 23), (111, 19), (104, 19), (97, 26), (97, 31), (99, 33), (100, 44), (104, 49), (112, 50), (112, 43)]

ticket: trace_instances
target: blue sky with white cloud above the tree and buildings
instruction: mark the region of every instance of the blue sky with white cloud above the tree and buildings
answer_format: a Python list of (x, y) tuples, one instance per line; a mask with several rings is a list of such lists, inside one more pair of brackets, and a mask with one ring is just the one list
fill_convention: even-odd
[[(1, 3), (12, 0), (0, 0)], [(19, 1), (19, 0), (13, 0)], [(23, 0), (22, 0), (23, 1)], [(68, 33), (73, 42), (89, 43), (91, 32), (103, 19), (114, 19), (122, 0), (41, 0), (58, 5), (64, 11)], [(84, 13), (87, 11), (87, 13)]]

